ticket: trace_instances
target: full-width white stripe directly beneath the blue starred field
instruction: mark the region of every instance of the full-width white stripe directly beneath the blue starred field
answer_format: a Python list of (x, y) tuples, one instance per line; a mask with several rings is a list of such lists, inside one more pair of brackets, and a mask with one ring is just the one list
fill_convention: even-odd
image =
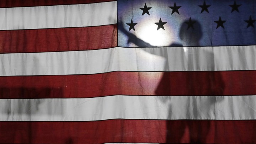
[(255, 70), (255, 54), (256, 46), (116, 47), (73, 52), (0, 54), (0, 75), (70, 75), (109, 71)]

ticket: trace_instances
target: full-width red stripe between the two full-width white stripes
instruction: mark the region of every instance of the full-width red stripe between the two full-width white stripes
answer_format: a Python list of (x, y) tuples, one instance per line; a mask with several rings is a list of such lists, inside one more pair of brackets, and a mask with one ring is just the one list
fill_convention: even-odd
[(1, 76), (0, 81), (0, 98), (256, 95), (255, 70), (165, 73), (116, 71), (92, 75)]

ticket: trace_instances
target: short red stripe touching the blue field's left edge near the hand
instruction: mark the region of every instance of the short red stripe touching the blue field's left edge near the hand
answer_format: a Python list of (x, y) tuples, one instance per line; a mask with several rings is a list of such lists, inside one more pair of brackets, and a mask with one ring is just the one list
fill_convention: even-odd
[(0, 31), (0, 53), (92, 50), (117, 46), (117, 25)]

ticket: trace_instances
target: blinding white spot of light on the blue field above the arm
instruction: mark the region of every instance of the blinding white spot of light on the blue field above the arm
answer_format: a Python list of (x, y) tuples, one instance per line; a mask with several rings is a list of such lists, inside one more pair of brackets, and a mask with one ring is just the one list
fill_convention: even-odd
[[(156, 21), (158, 22), (158, 21)], [(160, 28), (153, 22), (147, 22), (147, 25), (143, 25), (137, 28), (137, 37), (143, 41), (150, 43), (152, 46), (169, 46), (172, 43), (172, 34), (168, 25), (164, 25), (165, 30)]]

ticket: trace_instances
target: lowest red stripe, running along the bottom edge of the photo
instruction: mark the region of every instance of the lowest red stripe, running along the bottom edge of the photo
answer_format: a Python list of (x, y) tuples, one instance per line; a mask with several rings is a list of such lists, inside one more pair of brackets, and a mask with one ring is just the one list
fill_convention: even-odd
[(256, 143), (256, 121), (0, 122), (0, 143)]

